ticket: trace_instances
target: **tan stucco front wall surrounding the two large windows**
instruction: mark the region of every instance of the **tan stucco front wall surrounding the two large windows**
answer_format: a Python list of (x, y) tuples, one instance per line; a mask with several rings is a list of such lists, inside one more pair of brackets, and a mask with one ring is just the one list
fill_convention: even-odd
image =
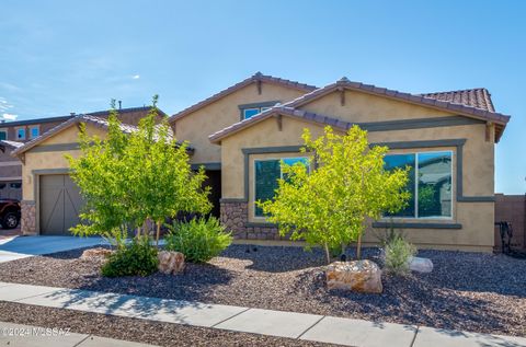
[[(340, 107), (338, 99), (338, 107)], [(391, 105), (389, 103), (389, 105)], [(392, 106), (392, 105), (391, 105)], [(409, 105), (412, 107), (412, 105)], [(374, 107), (374, 106), (373, 106)], [(403, 109), (408, 106), (403, 105)], [(416, 107), (421, 108), (421, 107)], [(310, 109), (311, 111), (311, 109)], [(328, 111), (325, 111), (328, 112)], [(377, 111), (382, 113), (381, 111)], [(395, 111), (382, 114), (397, 114)], [(415, 118), (424, 118), (425, 115), (419, 115), (413, 112), (403, 112), (404, 115), (413, 115)], [(444, 116), (435, 111), (433, 116)], [(397, 117), (402, 117), (402, 113)], [(353, 118), (353, 122), (371, 122), (370, 119)], [(348, 118), (347, 118), (348, 119)], [(363, 119), (363, 120), (362, 120)], [(389, 118), (392, 119), (392, 118)], [(386, 118), (376, 118), (376, 122), (387, 120)], [(259, 123), (255, 126), (245, 128), (231, 137), (222, 140), (222, 197), (224, 198), (243, 198), (244, 197), (244, 157), (243, 148), (263, 148), (279, 146), (302, 144), (300, 136), (305, 127), (311, 129), (313, 137), (322, 134), (322, 126), (312, 123), (299, 120), (297, 118), (283, 117), (282, 131), (278, 130), (277, 120), (270, 118)], [(485, 125), (464, 125), (449, 127), (435, 127), (410, 130), (391, 131), (371, 131), (368, 134), (369, 142), (393, 142), (393, 141), (420, 141), (420, 140), (441, 140), (441, 139), (466, 139), (464, 146), (462, 160), (462, 186), (464, 196), (492, 196), (494, 193), (494, 143), (485, 141)], [(458, 203), (456, 201), (456, 148), (437, 147), (423, 149), (392, 150), (391, 152), (422, 152), (422, 151), (443, 151), (450, 150), (454, 153), (453, 160), (453, 218), (450, 219), (399, 219), (397, 222), (433, 222), (433, 223), (460, 223), (460, 230), (447, 229), (407, 229), (405, 234), (412, 242), (422, 247), (444, 247), (455, 250), (487, 251), (491, 252), (493, 247), (493, 219), (494, 203)], [(291, 154), (268, 153), (263, 157), (290, 157)], [(249, 157), (250, 165), (253, 166), (255, 154)], [(253, 217), (253, 169), (249, 170), (249, 221), (261, 221)], [(371, 228), (369, 228), (371, 229)], [(377, 229), (376, 233), (382, 233), (382, 229)], [(375, 232), (367, 233), (364, 242), (375, 242)]]

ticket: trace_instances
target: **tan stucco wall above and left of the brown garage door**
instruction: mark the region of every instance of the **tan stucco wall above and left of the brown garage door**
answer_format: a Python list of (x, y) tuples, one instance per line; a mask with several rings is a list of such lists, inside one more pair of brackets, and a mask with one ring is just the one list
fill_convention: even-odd
[[(90, 136), (99, 136), (100, 138), (105, 138), (106, 131), (102, 128), (94, 127), (92, 125), (87, 125), (87, 132)], [(32, 148), (25, 155), (25, 163), (22, 164), (22, 199), (23, 200), (35, 200), (35, 176), (33, 175), (34, 170), (57, 170), (57, 169), (68, 169), (69, 163), (65, 158), (66, 153), (69, 153), (73, 157), (80, 154), (79, 150), (72, 151), (38, 151), (48, 144), (58, 144), (58, 143), (76, 143), (79, 138), (79, 129), (76, 125), (64, 129), (62, 131), (56, 134), (55, 136), (42, 141), (38, 146)]]

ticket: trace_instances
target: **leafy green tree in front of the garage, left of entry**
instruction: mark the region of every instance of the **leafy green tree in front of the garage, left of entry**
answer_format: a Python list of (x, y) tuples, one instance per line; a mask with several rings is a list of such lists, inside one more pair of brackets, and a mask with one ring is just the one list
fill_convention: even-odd
[(135, 131), (123, 132), (112, 102), (107, 137), (89, 136), (81, 126), (81, 155), (68, 155), (71, 177), (80, 187), (87, 223), (72, 228), (80, 235), (102, 234), (122, 240), (129, 229), (147, 233), (147, 221), (159, 229), (180, 211), (207, 212), (209, 189), (203, 189), (204, 170), (193, 172), (187, 143), (179, 143), (168, 122), (156, 125), (157, 96)]

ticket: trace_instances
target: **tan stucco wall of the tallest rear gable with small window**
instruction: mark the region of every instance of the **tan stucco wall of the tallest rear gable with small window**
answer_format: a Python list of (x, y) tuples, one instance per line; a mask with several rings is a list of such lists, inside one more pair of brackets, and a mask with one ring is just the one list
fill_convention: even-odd
[(221, 161), (221, 149), (210, 143), (208, 136), (240, 120), (239, 105), (259, 102), (287, 102), (305, 92), (276, 84), (262, 83), (261, 94), (256, 83), (247, 85), (185, 117), (172, 123), (179, 140), (190, 141), (195, 148), (192, 163)]

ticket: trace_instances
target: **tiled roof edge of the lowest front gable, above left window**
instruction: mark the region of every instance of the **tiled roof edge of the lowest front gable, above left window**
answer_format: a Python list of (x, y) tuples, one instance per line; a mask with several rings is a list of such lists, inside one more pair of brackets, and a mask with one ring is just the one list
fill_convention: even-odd
[(247, 127), (250, 127), (256, 123), (263, 122), (267, 118), (271, 118), (273, 116), (278, 116), (278, 115), (284, 115), (284, 116), (289, 116), (294, 118), (298, 118), (301, 120), (306, 122), (312, 122), (312, 123), (318, 123), (322, 126), (330, 125), (333, 128), (342, 129), (342, 130), (348, 130), (354, 123), (351, 122), (345, 122), (341, 119), (336, 119), (333, 117), (329, 117), (325, 115), (320, 115), (316, 114), (312, 112), (307, 112), (302, 109), (296, 109), (293, 107), (287, 107), (287, 106), (275, 106), (272, 107), (265, 112), (262, 112), (251, 118), (243, 119), (241, 122), (238, 122), (222, 130), (219, 130), (208, 137), (208, 139), (214, 142), (214, 143), (219, 143), (221, 139), (226, 138), (227, 136), (230, 136), (235, 132), (240, 131), (241, 129), (244, 129)]

